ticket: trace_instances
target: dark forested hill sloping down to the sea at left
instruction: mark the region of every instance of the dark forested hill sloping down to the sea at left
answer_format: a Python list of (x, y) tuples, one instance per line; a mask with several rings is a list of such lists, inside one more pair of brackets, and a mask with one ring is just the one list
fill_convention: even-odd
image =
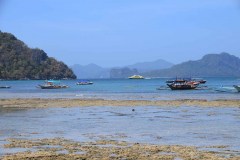
[(0, 31), (0, 79), (75, 79), (63, 62), (31, 49), (10, 33)]

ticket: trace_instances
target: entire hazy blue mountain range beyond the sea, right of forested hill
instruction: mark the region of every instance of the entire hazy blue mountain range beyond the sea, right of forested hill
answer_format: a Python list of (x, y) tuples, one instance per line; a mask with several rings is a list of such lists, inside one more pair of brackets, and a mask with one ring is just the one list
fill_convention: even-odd
[(146, 77), (240, 77), (240, 59), (229, 53), (220, 53), (177, 65), (157, 60), (111, 69), (95, 64), (74, 65), (72, 69), (78, 78), (127, 78), (133, 74)]

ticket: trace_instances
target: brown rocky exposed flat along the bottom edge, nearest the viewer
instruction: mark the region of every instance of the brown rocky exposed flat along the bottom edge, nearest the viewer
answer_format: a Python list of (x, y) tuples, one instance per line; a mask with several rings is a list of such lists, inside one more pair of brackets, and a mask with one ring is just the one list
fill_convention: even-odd
[[(100, 140), (96, 142), (74, 142), (61, 138), (19, 140), (8, 139), (5, 148), (26, 148), (29, 151), (6, 155), (3, 160), (50, 160), (50, 159), (164, 159), (164, 160), (237, 160), (240, 156), (224, 152), (199, 150), (193, 146), (150, 145), (125, 141)], [(31, 148), (36, 151), (32, 152)], [(209, 146), (225, 148), (225, 146)]]

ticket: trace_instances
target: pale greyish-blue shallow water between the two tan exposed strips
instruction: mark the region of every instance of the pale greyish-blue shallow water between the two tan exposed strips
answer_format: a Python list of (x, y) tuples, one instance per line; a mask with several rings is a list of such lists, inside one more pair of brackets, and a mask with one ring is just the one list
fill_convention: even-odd
[(7, 138), (63, 137), (190, 146), (227, 145), (240, 153), (240, 109), (205, 107), (0, 109), (0, 155)]

